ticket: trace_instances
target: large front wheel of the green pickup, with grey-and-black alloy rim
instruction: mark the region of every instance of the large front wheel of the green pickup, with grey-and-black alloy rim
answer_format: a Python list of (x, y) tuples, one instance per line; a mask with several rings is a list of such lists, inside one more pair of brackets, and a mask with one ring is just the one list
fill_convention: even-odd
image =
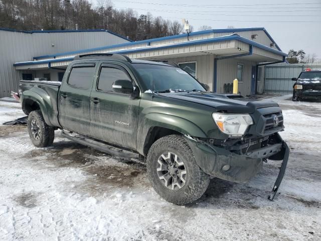
[(196, 201), (210, 182), (210, 176), (197, 165), (186, 140), (178, 135), (158, 139), (148, 151), (146, 165), (155, 191), (175, 204)]

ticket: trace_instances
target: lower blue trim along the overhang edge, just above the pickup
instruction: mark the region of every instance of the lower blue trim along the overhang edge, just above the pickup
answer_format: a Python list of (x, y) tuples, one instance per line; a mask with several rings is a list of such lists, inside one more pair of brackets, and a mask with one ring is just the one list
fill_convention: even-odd
[[(264, 49), (266, 51), (269, 51), (269, 52), (272, 52), (275, 54), (287, 56), (287, 54), (285, 54), (281, 51), (266, 47), (265, 45), (262, 45), (262, 44), (258, 44), (256, 42), (253, 42), (251, 40), (243, 38), (237, 34), (231, 35), (231, 36), (217, 37), (217, 38), (212, 38), (212, 39), (192, 40), (192, 41), (188, 41), (188, 42), (182, 42), (182, 43), (166, 45), (166, 46), (154, 46), (154, 47), (145, 47), (145, 48), (139, 48), (139, 49), (128, 49), (128, 50), (121, 50), (121, 51), (113, 51), (113, 52), (109, 52), (109, 53), (128, 54), (128, 53), (136, 53), (136, 52), (141, 52), (141, 51), (146, 51), (146, 50), (148, 50), (148, 51), (149, 50), (159, 50), (159, 49), (183, 47), (183, 46), (196, 45), (196, 44), (206, 44), (206, 43), (214, 43), (214, 42), (221, 42), (221, 41), (229, 41), (229, 40), (238, 40), (240, 42), (252, 45), (252, 46), (260, 48), (260, 49)], [(38, 61), (19, 62), (19, 63), (15, 63), (14, 66), (29, 65), (29, 64), (42, 64), (42, 63), (59, 62), (59, 61), (66, 61), (66, 60), (73, 60), (73, 57), (61, 58), (61, 59), (47, 59), (47, 60), (38, 60)]]

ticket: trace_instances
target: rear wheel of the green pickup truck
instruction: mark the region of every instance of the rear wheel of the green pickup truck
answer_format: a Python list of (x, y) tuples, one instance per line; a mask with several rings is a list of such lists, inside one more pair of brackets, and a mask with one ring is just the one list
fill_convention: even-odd
[(55, 128), (46, 124), (40, 110), (29, 113), (28, 132), (32, 144), (36, 147), (48, 147), (54, 142)]

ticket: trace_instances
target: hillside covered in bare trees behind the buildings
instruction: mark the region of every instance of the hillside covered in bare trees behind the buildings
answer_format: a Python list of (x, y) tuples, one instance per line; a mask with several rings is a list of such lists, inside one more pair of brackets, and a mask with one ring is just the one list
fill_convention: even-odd
[(108, 0), (0, 0), (0, 27), (17, 30), (108, 29), (132, 40), (182, 33), (179, 21), (117, 10)]

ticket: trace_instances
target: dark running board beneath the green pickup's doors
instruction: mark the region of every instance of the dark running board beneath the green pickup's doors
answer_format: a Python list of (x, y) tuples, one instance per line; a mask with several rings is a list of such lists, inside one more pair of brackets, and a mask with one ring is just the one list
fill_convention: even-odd
[(129, 158), (129, 159), (134, 158), (134, 159), (138, 159), (138, 160), (140, 157), (140, 155), (138, 153), (134, 153), (134, 152), (120, 149), (120, 148), (117, 148), (114, 146), (110, 146), (110, 145), (95, 141), (91, 138), (88, 138), (86, 136), (82, 136), (79, 134), (69, 134), (69, 133), (62, 131), (61, 136), (65, 137), (71, 141), (77, 142), (81, 145), (92, 147), (92, 148), (97, 149), (101, 152), (106, 152), (108, 154), (111, 154), (111, 155), (114, 155), (117, 157)]

